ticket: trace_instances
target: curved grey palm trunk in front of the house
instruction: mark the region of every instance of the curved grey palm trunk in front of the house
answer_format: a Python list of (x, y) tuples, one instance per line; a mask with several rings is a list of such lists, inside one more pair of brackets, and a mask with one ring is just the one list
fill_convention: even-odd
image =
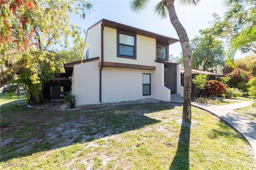
[(192, 71), (192, 51), (186, 30), (180, 23), (175, 7), (174, 0), (163, 0), (164, 5), (168, 8), (170, 21), (176, 30), (180, 45), (182, 48), (183, 65), (184, 65), (184, 97), (183, 97), (183, 121), (191, 121), (191, 71)]

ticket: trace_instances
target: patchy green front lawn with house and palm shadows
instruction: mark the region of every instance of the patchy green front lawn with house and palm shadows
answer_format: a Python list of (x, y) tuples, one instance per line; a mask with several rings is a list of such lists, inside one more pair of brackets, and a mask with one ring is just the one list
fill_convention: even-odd
[(191, 123), (172, 103), (47, 108), (1, 105), (3, 169), (256, 169), (247, 141), (196, 107)]

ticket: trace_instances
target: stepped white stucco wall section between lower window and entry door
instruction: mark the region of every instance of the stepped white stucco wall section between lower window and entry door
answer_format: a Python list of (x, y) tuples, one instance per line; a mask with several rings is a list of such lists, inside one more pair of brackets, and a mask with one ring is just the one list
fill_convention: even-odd
[(156, 63), (156, 70), (151, 75), (152, 98), (162, 101), (170, 101), (171, 90), (164, 86), (164, 64)]

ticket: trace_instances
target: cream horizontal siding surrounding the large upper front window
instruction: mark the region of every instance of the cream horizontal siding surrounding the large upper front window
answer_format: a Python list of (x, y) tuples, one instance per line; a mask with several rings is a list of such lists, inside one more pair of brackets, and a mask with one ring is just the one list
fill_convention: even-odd
[(136, 35), (137, 54), (136, 60), (117, 57), (117, 30), (104, 27), (104, 61), (113, 63), (137, 64), (155, 66), (156, 60), (156, 39)]

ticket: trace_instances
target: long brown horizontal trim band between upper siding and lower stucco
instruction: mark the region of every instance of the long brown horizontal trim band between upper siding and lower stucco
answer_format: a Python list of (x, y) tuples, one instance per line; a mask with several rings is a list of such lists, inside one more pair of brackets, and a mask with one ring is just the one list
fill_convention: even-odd
[[(142, 70), (156, 70), (155, 66), (145, 66), (145, 65), (137, 65), (137, 64), (126, 64), (126, 63), (113, 63), (113, 62), (103, 62), (104, 66), (107, 67), (117, 67), (117, 68), (134, 68), (134, 69), (142, 69)], [(99, 62), (99, 67), (102, 66)]]

